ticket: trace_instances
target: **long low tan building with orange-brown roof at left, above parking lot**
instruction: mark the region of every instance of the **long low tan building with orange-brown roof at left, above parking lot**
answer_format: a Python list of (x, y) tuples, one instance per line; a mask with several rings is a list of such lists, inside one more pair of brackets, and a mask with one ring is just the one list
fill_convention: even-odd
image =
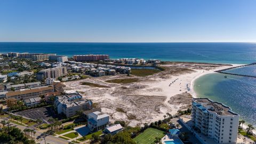
[(6, 98), (15, 98), (17, 100), (21, 99), (30, 99), (39, 97), (39, 95), (44, 95), (49, 92), (54, 92), (54, 87), (51, 86), (41, 86), (41, 87), (34, 87), (31, 89), (23, 89), (17, 91), (9, 91), (6, 93)]

